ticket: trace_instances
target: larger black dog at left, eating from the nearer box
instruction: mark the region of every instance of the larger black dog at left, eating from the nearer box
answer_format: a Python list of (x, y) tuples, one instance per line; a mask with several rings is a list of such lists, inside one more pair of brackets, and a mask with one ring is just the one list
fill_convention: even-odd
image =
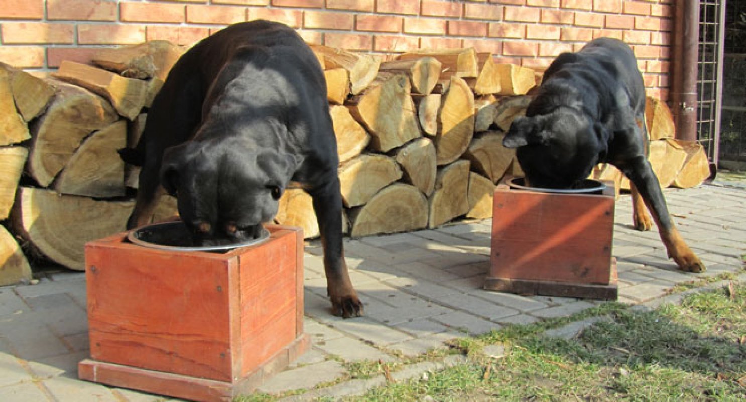
[(319, 61), (286, 25), (242, 22), (202, 40), (169, 72), (137, 149), (121, 152), (142, 165), (128, 228), (150, 222), (162, 186), (198, 244), (245, 241), (298, 182), (313, 197), (333, 312), (362, 315), (342, 250), (326, 93)]

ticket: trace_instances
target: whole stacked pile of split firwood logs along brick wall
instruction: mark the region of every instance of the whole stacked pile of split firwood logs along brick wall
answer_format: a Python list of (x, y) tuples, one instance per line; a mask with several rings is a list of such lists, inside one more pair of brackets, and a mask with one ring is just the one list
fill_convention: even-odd
[[(325, 68), (346, 233), (492, 216), (495, 185), (521, 174), (501, 140), (530, 101), (533, 70), (474, 49), (423, 49), (390, 61), (312, 49)], [(93, 65), (63, 61), (44, 77), (0, 64), (0, 285), (31, 279), (29, 259), (80, 270), (87, 241), (125, 229), (137, 169), (116, 151), (137, 143), (182, 52), (163, 41), (102, 49)], [(651, 142), (651, 158), (662, 158), (656, 173), (666, 185), (698, 185), (705, 168), (709, 174), (706, 157), (698, 144), (671, 139), (666, 111), (658, 102), (648, 112), (651, 132), (663, 138)], [(609, 167), (595, 174), (615, 179)], [(173, 214), (175, 200), (166, 197), (157, 219)], [(275, 220), (319, 235), (303, 191), (283, 194)]]

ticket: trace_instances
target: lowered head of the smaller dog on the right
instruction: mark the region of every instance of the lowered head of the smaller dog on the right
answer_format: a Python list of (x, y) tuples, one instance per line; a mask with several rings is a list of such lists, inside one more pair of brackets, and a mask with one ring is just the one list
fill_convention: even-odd
[(515, 148), (528, 185), (564, 190), (589, 176), (606, 152), (605, 138), (601, 124), (577, 109), (560, 107), (513, 120), (503, 146)]

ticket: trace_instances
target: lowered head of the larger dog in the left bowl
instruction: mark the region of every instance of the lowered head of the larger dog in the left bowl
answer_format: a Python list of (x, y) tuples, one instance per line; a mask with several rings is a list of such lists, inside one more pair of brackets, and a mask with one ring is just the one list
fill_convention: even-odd
[(166, 149), (160, 182), (195, 245), (212, 246), (257, 238), (291, 175), (292, 161), (274, 149), (187, 142)]

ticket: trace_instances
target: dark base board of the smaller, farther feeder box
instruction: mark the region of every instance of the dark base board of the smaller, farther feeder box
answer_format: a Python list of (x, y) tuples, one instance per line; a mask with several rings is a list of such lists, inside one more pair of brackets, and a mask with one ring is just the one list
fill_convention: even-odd
[(551, 282), (539, 279), (509, 279), (487, 276), (484, 288), (488, 291), (527, 294), (531, 296), (573, 297), (576, 299), (618, 300), (619, 279), (616, 259), (612, 258), (611, 281), (608, 285)]

